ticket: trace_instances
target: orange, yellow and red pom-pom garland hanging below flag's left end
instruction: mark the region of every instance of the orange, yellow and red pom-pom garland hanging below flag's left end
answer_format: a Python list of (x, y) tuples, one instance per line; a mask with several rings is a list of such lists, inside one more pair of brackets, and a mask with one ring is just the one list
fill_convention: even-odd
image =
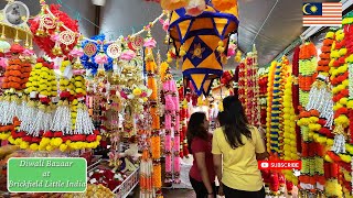
[(299, 54), (299, 103), (300, 116), (297, 124), (300, 127), (302, 145), (302, 169), (299, 177), (299, 188), (301, 193), (309, 194), (315, 193), (315, 143), (313, 143), (312, 136), (309, 135), (309, 122), (306, 119), (310, 119), (310, 116), (302, 113), (304, 107), (309, 102), (310, 87), (315, 79), (317, 68), (317, 50), (313, 43), (306, 43), (300, 47)]

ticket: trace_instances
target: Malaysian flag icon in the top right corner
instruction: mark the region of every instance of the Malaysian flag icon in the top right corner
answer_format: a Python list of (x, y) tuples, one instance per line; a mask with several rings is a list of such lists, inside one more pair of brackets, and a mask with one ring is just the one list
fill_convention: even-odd
[(303, 26), (341, 26), (342, 3), (341, 2), (308, 2), (302, 6)]

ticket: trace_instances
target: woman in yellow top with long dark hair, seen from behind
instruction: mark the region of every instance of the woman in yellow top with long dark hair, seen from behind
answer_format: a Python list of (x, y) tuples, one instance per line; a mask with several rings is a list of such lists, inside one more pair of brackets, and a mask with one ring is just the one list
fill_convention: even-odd
[(212, 141), (220, 191), (226, 198), (265, 198), (263, 177), (257, 165), (257, 160), (267, 157), (260, 134), (249, 125), (237, 97), (225, 98), (223, 107), (223, 127), (214, 131)]

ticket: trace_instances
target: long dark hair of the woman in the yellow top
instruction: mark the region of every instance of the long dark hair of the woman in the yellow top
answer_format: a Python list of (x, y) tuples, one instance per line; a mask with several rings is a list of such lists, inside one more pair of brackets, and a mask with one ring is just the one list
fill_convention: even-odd
[(228, 96), (223, 99), (223, 108), (224, 134), (228, 144), (232, 148), (243, 146), (242, 135), (252, 139), (252, 131), (240, 100), (235, 96)]

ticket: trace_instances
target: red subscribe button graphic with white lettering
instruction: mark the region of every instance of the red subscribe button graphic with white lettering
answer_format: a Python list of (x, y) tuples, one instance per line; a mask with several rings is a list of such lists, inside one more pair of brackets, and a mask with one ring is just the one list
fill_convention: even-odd
[(258, 161), (259, 169), (301, 169), (301, 161)]

